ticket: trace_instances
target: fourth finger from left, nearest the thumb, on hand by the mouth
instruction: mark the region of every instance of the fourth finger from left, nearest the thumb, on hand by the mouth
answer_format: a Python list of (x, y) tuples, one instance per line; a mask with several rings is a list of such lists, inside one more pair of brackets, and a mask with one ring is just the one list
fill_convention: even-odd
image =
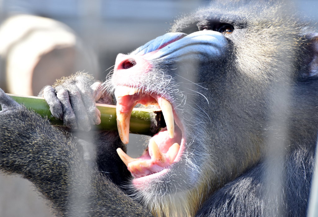
[(100, 112), (96, 108), (95, 100), (92, 97), (92, 89), (86, 85), (83, 85), (83, 83), (76, 83), (76, 85), (80, 91), (83, 103), (86, 105), (86, 112), (90, 123), (100, 124)]

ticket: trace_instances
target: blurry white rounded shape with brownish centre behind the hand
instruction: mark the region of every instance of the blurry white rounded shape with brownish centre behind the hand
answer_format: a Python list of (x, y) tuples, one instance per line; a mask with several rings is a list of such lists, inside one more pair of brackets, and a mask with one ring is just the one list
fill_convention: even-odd
[(8, 93), (37, 95), (56, 78), (76, 71), (100, 73), (97, 56), (53, 19), (11, 16), (0, 26), (0, 42), (0, 87)]

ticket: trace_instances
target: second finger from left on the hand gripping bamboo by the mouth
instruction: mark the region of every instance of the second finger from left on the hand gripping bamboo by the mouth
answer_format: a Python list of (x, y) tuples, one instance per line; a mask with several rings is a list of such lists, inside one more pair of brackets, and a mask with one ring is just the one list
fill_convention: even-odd
[(56, 97), (62, 105), (64, 124), (69, 128), (77, 129), (76, 116), (71, 106), (68, 91), (63, 87), (58, 86), (56, 87)]

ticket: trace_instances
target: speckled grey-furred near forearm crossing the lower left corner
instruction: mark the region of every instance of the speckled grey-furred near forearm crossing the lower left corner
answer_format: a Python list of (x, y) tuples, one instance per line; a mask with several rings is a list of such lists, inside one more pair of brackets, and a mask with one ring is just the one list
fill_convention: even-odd
[(58, 215), (150, 216), (84, 160), (73, 135), (18, 105), (0, 89), (0, 169), (30, 180)]

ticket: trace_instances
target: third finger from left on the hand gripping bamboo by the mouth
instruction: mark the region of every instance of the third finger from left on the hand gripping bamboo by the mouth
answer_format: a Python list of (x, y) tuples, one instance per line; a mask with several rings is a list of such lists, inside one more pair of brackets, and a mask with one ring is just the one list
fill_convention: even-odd
[[(85, 103), (82, 95), (76, 86), (69, 89), (69, 100), (76, 116), (77, 125), (80, 130), (89, 131), (91, 129), (91, 121), (86, 113)], [(87, 107), (87, 105), (86, 105)]]

